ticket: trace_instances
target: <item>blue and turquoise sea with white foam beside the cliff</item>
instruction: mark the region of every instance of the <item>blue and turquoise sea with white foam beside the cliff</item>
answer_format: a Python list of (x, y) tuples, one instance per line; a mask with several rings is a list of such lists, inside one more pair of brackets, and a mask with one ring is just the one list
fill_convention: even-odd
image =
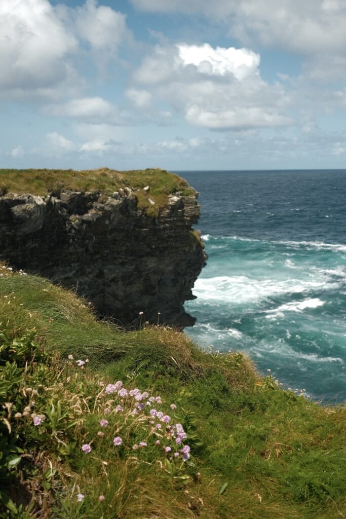
[(346, 170), (178, 173), (200, 192), (209, 255), (186, 332), (346, 401)]

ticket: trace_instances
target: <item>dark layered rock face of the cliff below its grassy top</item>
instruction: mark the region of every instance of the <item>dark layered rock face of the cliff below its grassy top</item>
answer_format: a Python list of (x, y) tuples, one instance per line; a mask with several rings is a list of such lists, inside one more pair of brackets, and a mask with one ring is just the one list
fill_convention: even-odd
[[(149, 188), (145, 188), (149, 190)], [(156, 217), (137, 205), (135, 190), (111, 196), (62, 192), (0, 197), (0, 256), (92, 302), (122, 324), (143, 319), (191, 326), (183, 304), (205, 264), (197, 193), (170, 195)]]

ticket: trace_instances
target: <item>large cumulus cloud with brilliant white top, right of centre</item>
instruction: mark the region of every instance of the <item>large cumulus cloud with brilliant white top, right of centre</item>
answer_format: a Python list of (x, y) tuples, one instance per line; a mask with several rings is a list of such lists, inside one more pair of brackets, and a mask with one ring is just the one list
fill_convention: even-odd
[(133, 79), (192, 125), (214, 130), (289, 125), (289, 97), (281, 85), (260, 77), (259, 62), (259, 54), (245, 48), (156, 46)]

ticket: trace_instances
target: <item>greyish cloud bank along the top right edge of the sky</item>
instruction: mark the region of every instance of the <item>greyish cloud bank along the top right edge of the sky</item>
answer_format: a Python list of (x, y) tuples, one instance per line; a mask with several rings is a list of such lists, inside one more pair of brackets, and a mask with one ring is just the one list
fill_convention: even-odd
[(230, 36), (246, 45), (259, 42), (301, 54), (343, 51), (343, 0), (131, 0), (139, 10), (204, 14), (227, 24)]

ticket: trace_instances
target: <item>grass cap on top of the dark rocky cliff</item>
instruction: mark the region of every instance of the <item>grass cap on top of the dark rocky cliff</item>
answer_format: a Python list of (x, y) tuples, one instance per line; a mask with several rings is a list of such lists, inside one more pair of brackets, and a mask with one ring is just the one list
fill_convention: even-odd
[[(144, 187), (148, 185), (149, 190), (145, 190)], [(181, 192), (188, 196), (195, 193), (184, 179), (161, 169), (137, 171), (114, 171), (108, 168), (89, 171), (0, 169), (0, 195), (6, 193), (57, 195), (64, 190), (112, 194), (125, 187), (133, 189), (138, 207), (146, 209), (147, 214), (152, 216), (156, 216), (159, 209), (167, 204), (170, 194)]]

